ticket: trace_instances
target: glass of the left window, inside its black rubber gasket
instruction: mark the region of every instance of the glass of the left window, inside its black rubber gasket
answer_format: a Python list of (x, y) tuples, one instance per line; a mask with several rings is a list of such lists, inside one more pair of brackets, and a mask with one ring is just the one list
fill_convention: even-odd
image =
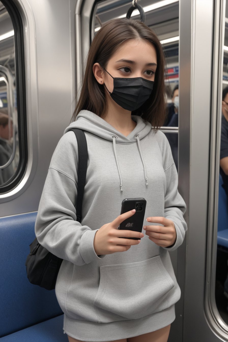
[(0, 187), (13, 179), (18, 168), (17, 126), (14, 29), (0, 2)]

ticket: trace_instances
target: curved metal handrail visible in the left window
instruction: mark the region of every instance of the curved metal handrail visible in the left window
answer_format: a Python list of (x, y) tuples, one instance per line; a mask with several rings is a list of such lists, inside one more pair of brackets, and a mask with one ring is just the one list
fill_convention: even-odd
[(14, 111), (14, 87), (13, 87), (13, 75), (8, 68), (3, 65), (0, 65), (0, 72), (4, 74), (6, 79), (6, 88), (7, 88), (7, 102), (8, 102), (8, 123), (9, 123), (9, 137), (11, 134), (11, 120), (13, 121), (13, 151), (10, 159), (4, 164), (0, 166), (1, 169), (5, 169), (8, 167), (16, 154), (16, 118)]

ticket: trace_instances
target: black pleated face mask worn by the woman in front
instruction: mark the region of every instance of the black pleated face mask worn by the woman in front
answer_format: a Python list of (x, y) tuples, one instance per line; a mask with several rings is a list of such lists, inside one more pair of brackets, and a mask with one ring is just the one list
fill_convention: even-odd
[[(108, 71), (105, 70), (107, 73)], [(108, 73), (109, 74), (109, 73)], [(110, 74), (109, 74), (110, 75)], [(112, 77), (112, 75), (110, 75)], [(111, 98), (122, 108), (133, 111), (141, 107), (148, 100), (154, 81), (146, 80), (143, 77), (134, 78), (113, 78), (113, 91), (108, 90)]]

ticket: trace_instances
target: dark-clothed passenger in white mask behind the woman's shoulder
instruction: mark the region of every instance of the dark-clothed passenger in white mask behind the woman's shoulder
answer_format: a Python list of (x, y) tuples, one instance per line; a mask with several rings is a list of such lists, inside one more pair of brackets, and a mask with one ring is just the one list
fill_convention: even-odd
[[(172, 104), (169, 106), (167, 127), (178, 127), (178, 111), (179, 111), (179, 85), (173, 90)], [(172, 114), (172, 117), (170, 118)], [(170, 119), (169, 119), (170, 118)], [(173, 160), (178, 170), (178, 134), (177, 133), (166, 133), (166, 138), (170, 143), (172, 150)]]

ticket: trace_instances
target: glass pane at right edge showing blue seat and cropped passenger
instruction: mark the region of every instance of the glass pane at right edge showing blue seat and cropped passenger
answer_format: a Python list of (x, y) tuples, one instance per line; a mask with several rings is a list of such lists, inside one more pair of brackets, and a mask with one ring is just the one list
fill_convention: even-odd
[(228, 2), (223, 58), (220, 169), (218, 195), (218, 239), (215, 299), (221, 318), (228, 325)]

